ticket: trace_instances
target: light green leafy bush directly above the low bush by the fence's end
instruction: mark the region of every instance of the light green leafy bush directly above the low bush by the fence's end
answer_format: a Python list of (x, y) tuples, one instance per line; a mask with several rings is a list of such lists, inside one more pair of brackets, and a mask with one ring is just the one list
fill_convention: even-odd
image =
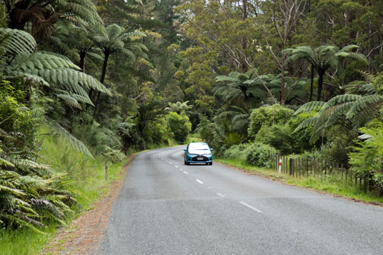
[(254, 137), (262, 126), (287, 123), (292, 114), (294, 111), (279, 104), (254, 109), (250, 114), (249, 136)]

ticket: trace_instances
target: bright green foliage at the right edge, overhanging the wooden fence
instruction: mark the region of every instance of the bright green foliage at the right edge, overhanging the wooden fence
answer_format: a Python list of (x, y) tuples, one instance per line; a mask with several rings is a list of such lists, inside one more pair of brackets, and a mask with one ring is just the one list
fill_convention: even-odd
[(359, 129), (367, 139), (357, 141), (354, 152), (349, 153), (352, 171), (359, 176), (371, 176), (380, 194), (383, 194), (383, 123)]

